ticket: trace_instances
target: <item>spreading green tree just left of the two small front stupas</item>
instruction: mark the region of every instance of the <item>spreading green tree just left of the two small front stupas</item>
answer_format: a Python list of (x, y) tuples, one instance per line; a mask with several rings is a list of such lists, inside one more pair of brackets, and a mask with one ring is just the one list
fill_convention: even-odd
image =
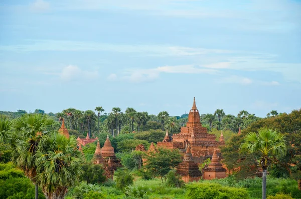
[(145, 168), (154, 176), (163, 177), (180, 162), (182, 162), (179, 150), (158, 148), (157, 153), (150, 153), (146, 157)]

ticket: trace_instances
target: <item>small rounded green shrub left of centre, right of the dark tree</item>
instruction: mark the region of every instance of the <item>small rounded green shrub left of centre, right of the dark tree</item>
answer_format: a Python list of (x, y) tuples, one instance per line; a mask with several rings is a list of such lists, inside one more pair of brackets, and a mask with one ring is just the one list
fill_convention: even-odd
[(119, 189), (124, 189), (128, 185), (133, 184), (134, 177), (131, 175), (128, 169), (119, 168), (115, 172), (116, 176), (116, 187)]

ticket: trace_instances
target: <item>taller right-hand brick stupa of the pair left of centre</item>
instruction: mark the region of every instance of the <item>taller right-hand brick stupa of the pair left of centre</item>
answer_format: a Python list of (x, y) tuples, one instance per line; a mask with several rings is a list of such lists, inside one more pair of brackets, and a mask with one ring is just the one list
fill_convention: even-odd
[(104, 164), (106, 164), (108, 162), (108, 160), (110, 160), (111, 167), (114, 170), (116, 170), (117, 167), (121, 166), (120, 161), (115, 156), (114, 148), (111, 145), (109, 135), (107, 135), (107, 138), (101, 149), (101, 156), (104, 159)]

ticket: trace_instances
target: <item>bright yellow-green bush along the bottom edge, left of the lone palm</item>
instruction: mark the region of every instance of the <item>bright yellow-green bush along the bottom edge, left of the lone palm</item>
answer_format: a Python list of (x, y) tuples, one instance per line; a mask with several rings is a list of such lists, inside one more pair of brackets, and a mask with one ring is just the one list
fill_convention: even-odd
[(191, 183), (187, 185), (188, 199), (247, 199), (248, 192), (244, 188), (227, 187), (218, 183)]

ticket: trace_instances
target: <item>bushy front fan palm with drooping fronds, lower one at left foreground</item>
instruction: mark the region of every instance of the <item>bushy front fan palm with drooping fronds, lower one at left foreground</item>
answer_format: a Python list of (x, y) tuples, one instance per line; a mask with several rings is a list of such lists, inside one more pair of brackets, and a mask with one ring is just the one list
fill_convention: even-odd
[(35, 179), (42, 187), (47, 199), (63, 199), (68, 187), (79, 181), (85, 157), (77, 150), (74, 136), (66, 138), (57, 132), (42, 136), (38, 145), (35, 164), (37, 176)]

